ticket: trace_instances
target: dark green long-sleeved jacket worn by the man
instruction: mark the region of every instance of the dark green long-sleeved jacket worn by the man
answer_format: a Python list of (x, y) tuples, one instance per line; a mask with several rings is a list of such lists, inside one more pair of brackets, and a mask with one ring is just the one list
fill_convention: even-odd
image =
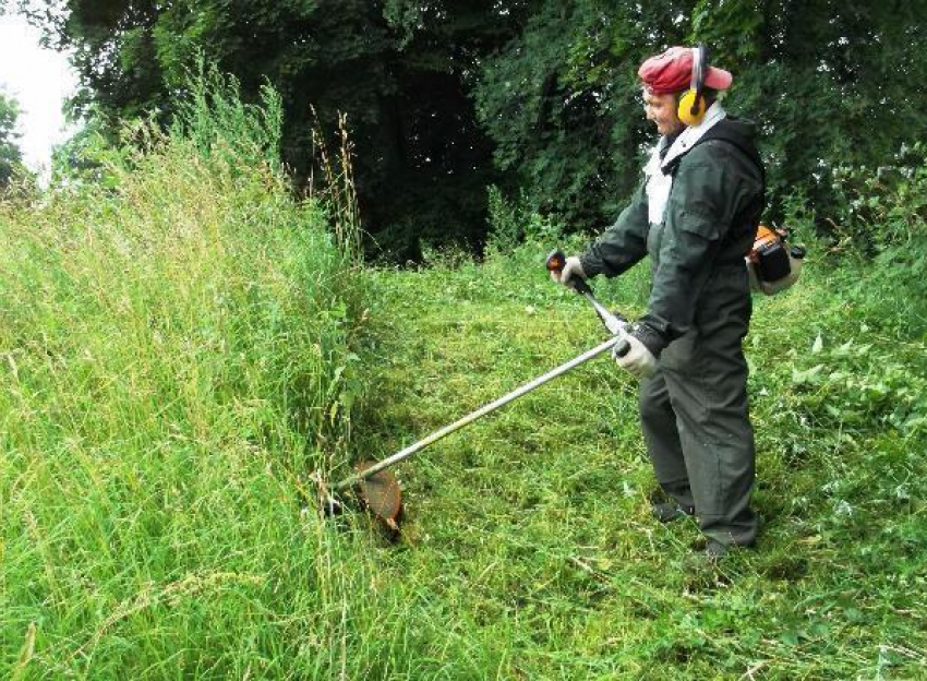
[(690, 330), (700, 301), (711, 295), (714, 272), (744, 268), (743, 295), (750, 295), (744, 256), (763, 205), (758, 159), (753, 126), (731, 117), (720, 121), (674, 162), (661, 224), (648, 222), (645, 179), (615, 224), (580, 255), (589, 277), (617, 276), (650, 255), (653, 283), (639, 321), (655, 334), (658, 354)]

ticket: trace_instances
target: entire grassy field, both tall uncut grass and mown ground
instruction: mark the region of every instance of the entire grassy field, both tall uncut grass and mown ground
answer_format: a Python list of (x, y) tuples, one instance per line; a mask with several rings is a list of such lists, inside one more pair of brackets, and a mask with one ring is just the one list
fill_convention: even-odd
[[(0, 204), (0, 676), (925, 676), (915, 270), (811, 241), (800, 285), (756, 300), (761, 536), (719, 571), (694, 524), (650, 518), (606, 357), (401, 464), (393, 542), (320, 517), (313, 480), (604, 339), (543, 271), (579, 242), (360, 266), (263, 159), (273, 116), (229, 106), (240, 136), (156, 135)], [(597, 294), (636, 316), (646, 273)]]

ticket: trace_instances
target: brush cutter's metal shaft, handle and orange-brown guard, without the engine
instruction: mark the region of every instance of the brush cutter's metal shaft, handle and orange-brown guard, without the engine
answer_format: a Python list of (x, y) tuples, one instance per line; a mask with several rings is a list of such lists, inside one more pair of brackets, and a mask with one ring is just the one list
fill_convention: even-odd
[[(561, 251), (553, 251), (550, 255), (547, 255), (546, 267), (551, 272), (561, 272), (565, 262), (566, 259)], [(612, 337), (609, 340), (597, 345), (592, 349), (582, 353), (582, 355), (579, 355), (555, 369), (552, 369), (547, 373), (525, 383), (510, 393), (503, 395), (498, 399), (491, 402), (483, 407), (480, 407), (475, 411), (468, 414), (453, 423), (434, 431), (426, 438), (410, 444), (392, 456), (387, 456), (380, 462), (364, 461), (357, 464), (354, 466), (353, 475), (345, 478), (340, 482), (330, 487), (326, 487), (324, 483), (321, 483), (320, 500), (325, 514), (333, 515), (340, 513), (342, 504), (337, 500), (335, 494), (349, 489), (354, 489), (361, 501), (373, 515), (381, 518), (389, 528), (398, 530), (397, 522), (402, 510), (401, 492), (395, 476), (387, 470), (387, 468), (395, 466), (402, 459), (421, 452), (426, 446), (430, 446), (438, 440), (446, 438), (450, 433), (469, 426), (487, 414), (492, 414), (496, 409), (518, 399), (522, 395), (527, 395), (534, 389), (540, 387), (544, 383), (547, 383), (559, 375), (563, 375), (576, 367), (589, 361), (593, 357), (598, 357), (613, 348), (616, 348), (615, 354), (618, 356), (627, 353), (630, 349), (630, 346), (625, 338), (627, 335), (626, 330), (628, 322), (623, 318), (613, 314), (598, 300), (595, 300), (592, 289), (585, 279), (576, 279), (573, 288), (582, 295), (595, 310), (595, 313), (605, 325), (605, 328), (607, 328), (609, 333), (612, 334)]]

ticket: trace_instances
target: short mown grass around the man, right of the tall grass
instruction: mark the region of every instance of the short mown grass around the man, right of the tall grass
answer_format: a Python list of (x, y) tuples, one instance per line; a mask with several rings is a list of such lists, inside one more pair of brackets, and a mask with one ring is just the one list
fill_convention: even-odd
[[(365, 455), (604, 337), (580, 298), (546, 280), (547, 246), (375, 275), (373, 327), (388, 332), (365, 357)], [(408, 518), (383, 570), (418, 593), (417, 620), (443, 620), (447, 640), (487, 665), (472, 673), (471, 659), (454, 660), (442, 673), (920, 676), (924, 345), (868, 334), (835, 286), (812, 264), (800, 287), (757, 300), (747, 345), (762, 535), (718, 574), (693, 564), (694, 524), (649, 517), (636, 389), (607, 359), (402, 464)], [(598, 289), (634, 315), (646, 274)]]

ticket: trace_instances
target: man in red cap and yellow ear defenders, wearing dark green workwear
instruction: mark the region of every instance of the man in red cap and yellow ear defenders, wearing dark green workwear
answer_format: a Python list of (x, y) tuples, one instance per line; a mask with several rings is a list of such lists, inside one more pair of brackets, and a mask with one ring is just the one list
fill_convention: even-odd
[(641, 428), (669, 499), (654, 503), (654, 516), (697, 516), (717, 560), (757, 533), (742, 340), (751, 312), (744, 256), (763, 208), (763, 169), (751, 126), (717, 100), (732, 76), (708, 65), (703, 47), (671, 48), (638, 73), (661, 135), (642, 183), (617, 222), (553, 276), (567, 286), (617, 276), (650, 255), (647, 312), (615, 359), (642, 379)]

